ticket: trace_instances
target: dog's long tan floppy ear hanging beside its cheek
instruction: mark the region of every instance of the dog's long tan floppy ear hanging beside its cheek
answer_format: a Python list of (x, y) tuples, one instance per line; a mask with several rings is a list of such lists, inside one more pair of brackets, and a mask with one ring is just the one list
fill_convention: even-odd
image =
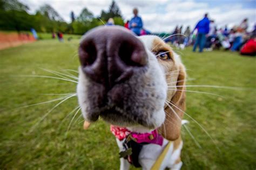
[[(185, 67), (180, 64), (179, 76), (177, 78), (177, 91), (165, 107), (165, 122), (160, 127), (161, 135), (167, 140), (176, 140), (180, 136), (181, 119), (186, 108), (186, 72)], [(173, 106), (175, 105), (175, 106)], [(171, 107), (171, 108), (170, 108)], [(177, 108), (178, 107), (178, 108)]]

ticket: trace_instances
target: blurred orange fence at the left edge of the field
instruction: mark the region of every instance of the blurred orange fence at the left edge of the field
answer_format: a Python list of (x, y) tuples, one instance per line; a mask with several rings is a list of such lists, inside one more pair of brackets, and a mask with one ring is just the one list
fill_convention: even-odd
[(36, 39), (29, 33), (0, 32), (0, 50), (34, 42)]

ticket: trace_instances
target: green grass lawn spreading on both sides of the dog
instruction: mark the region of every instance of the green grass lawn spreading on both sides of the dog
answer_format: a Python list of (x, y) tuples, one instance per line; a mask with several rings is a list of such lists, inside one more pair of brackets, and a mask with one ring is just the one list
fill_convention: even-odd
[[(119, 168), (118, 147), (109, 125), (100, 120), (84, 131), (82, 118), (77, 117), (67, 132), (72, 115), (62, 120), (77, 107), (76, 98), (53, 110), (32, 132), (31, 127), (57, 103), (18, 108), (59, 97), (42, 93), (76, 91), (71, 82), (21, 75), (52, 76), (40, 67), (77, 70), (77, 47), (76, 39), (42, 40), (0, 51), (0, 169)], [(188, 77), (195, 79), (187, 84), (251, 88), (187, 88), (223, 97), (187, 92), (186, 112), (205, 127), (215, 144), (185, 116), (202, 148), (183, 128), (183, 169), (255, 169), (255, 58), (223, 51), (192, 53), (190, 48), (181, 52)]]

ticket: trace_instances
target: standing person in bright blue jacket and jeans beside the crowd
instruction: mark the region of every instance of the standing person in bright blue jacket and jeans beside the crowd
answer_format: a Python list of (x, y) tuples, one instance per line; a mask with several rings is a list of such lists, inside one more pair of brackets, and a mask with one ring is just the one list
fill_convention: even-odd
[(203, 52), (206, 35), (210, 30), (210, 20), (208, 19), (207, 13), (205, 13), (205, 17), (197, 23), (194, 30), (196, 29), (197, 29), (197, 38), (196, 38), (196, 43), (194, 43), (193, 51), (195, 52), (197, 49), (197, 46), (199, 46), (199, 52)]

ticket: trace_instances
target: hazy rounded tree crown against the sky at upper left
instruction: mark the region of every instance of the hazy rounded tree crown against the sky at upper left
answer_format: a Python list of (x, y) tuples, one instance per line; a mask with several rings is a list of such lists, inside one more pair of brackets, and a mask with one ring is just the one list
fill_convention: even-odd
[(39, 8), (38, 12), (40, 12), (42, 15), (48, 17), (52, 21), (64, 22), (64, 19), (59, 15), (59, 13), (48, 4), (41, 6)]

